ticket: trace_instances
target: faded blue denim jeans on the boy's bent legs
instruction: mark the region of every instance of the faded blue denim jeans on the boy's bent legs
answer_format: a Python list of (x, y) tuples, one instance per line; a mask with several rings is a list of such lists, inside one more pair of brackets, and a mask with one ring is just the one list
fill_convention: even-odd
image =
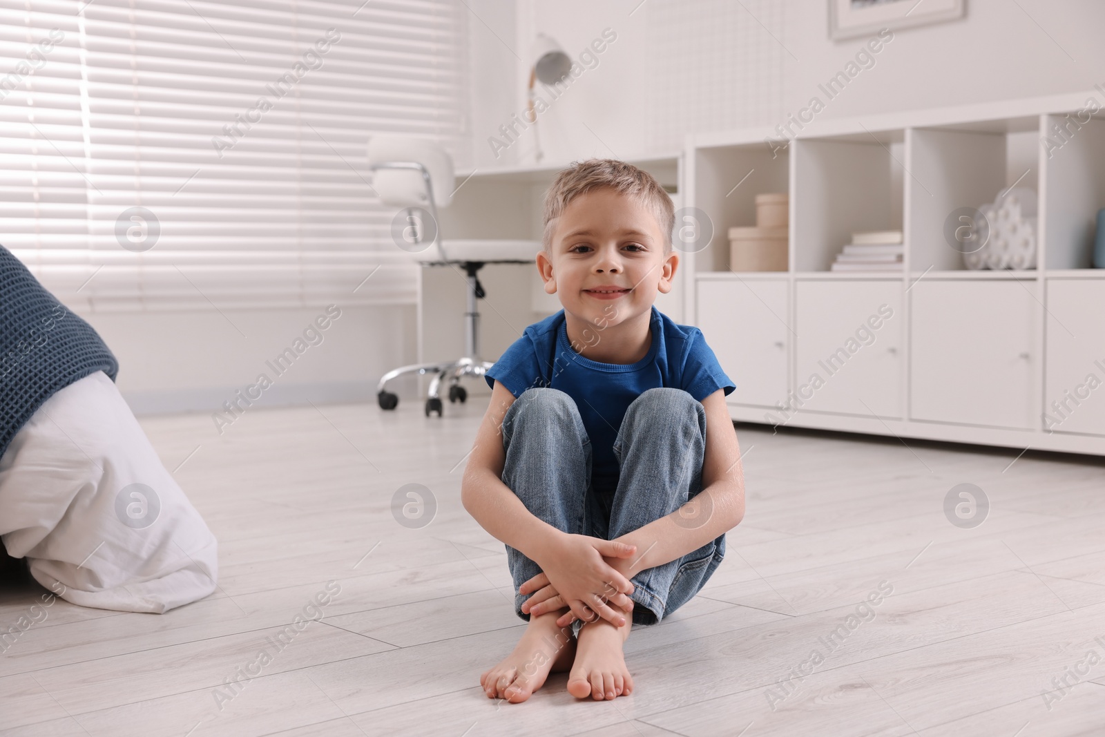
[[(529, 512), (565, 533), (614, 539), (664, 517), (702, 491), (706, 411), (680, 389), (650, 389), (629, 406), (614, 456), (621, 468), (611, 495), (591, 487), (591, 441), (571, 397), (527, 389), (503, 419), (505, 483)], [(636, 555), (643, 554), (640, 548)], [(506, 546), (514, 610), (529, 621), (518, 587), (541, 572)], [(633, 582), (634, 624), (656, 624), (686, 603), (725, 557), (725, 535), (682, 558), (640, 571)], [(532, 596), (532, 594), (530, 594)], [(581, 623), (573, 623), (578, 632)]]

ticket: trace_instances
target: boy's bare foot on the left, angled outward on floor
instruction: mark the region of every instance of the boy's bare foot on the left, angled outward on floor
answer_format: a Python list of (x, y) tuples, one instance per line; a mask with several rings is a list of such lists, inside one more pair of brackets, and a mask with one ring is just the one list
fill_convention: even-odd
[(576, 639), (571, 627), (557, 627), (556, 621), (568, 611), (530, 617), (526, 631), (514, 652), (480, 676), (487, 698), (505, 698), (520, 704), (545, 684), (549, 671), (567, 671), (576, 655)]

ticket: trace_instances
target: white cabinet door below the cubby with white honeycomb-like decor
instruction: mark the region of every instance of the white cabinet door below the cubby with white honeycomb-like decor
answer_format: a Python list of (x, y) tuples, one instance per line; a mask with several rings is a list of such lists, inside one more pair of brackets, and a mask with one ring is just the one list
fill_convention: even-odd
[(1032, 429), (1032, 283), (928, 281), (912, 296), (911, 415), (915, 420)]

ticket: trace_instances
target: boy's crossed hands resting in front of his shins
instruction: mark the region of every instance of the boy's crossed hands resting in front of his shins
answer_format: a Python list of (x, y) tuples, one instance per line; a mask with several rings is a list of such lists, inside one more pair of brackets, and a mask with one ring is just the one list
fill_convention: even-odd
[(543, 572), (518, 587), (518, 593), (533, 592), (522, 611), (538, 617), (568, 607), (571, 611), (557, 619), (557, 627), (567, 627), (577, 619), (593, 622), (600, 617), (622, 627), (625, 614), (633, 610), (628, 596), (633, 585), (628, 573), (635, 554), (635, 545), (617, 540), (558, 536), (545, 559), (537, 561)]

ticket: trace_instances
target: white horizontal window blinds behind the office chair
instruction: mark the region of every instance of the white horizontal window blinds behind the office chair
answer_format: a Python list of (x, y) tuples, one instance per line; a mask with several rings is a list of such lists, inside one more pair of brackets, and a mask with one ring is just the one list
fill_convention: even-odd
[(467, 164), (464, 22), (448, 0), (0, 0), (0, 243), (76, 309), (413, 302), (365, 145)]

